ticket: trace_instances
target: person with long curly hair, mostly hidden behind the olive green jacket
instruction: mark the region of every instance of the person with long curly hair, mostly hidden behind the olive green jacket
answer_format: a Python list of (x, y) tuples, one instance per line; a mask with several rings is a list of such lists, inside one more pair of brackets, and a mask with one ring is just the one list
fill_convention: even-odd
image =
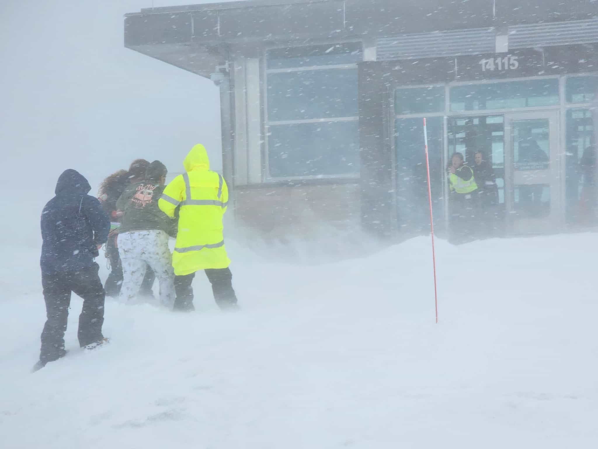
[[(145, 177), (145, 171), (149, 162), (145, 159), (135, 159), (129, 166), (129, 170), (118, 170), (106, 177), (100, 184), (98, 199), (102, 203), (104, 212), (110, 217), (110, 234), (106, 242), (105, 256), (108, 259), (110, 274), (104, 284), (106, 296), (117, 298), (123, 284), (123, 265), (118, 255), (118, 227), (120, 227), (121, 214), (118, 214), (116, 202), (130, 184), (135, 184)], [(151, 268), (145, 273), (144, 281), (139, 289), (141, 296), (154, 296), (152, 285), (155, 274)]]

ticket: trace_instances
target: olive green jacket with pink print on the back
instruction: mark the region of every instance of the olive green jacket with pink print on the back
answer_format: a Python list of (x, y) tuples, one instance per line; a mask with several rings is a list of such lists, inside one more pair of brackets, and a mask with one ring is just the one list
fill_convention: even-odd
[(176, 221), (158, 209), (163, 191), (164, 186), (152, 181), (127, 187), (116, 203), (117, 209), (123, 211), (118, 233), (157, 229), (176, 236)]

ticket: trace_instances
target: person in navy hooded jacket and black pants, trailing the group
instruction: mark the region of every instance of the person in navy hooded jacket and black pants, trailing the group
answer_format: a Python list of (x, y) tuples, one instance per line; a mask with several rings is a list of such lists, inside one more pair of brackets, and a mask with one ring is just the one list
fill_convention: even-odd
[(71, 292), (83, 298), (78, 339), (81, 347), (102, 342), (105, 292), (98, 248), (108, 239), (110, 220), (102, 205), (88, 195), (86, 178), (69, 169), (56, 183), (56, 196), (41, 214), (41, 277), (47, 321), (41, 334), (39, 362), (34, 369), (64, 356), (64, 335)]

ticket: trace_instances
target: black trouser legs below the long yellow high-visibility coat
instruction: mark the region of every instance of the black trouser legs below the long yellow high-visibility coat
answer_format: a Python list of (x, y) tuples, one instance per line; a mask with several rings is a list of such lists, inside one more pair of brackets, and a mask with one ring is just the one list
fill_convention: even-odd
[[(237, 296), (233, 290), (233, 274), (230, 268), (206, 269), (206, 276), (212, 284), (212, 292), (216, 304), (221, 309), (234, 308), (237, 305)], [(191, 282), (195, 273), (185, 276), (175, 276), (176, 299), (174, 310), (195, 310), (193, 306), (193, 287)]]

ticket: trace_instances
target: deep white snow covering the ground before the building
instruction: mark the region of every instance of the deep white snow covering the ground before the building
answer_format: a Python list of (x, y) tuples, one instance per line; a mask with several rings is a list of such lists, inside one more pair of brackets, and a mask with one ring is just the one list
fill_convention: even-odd
[(83, 352), (74, 296), (35, 374), (38, 252), (3, 248), (0, 447), (598, 447), (597, 234), (439, 241), (440, 324), (428, 238), (321, 265), (228, 247), (240, 313), (198, 276), (197, 313), (109, 300)]

